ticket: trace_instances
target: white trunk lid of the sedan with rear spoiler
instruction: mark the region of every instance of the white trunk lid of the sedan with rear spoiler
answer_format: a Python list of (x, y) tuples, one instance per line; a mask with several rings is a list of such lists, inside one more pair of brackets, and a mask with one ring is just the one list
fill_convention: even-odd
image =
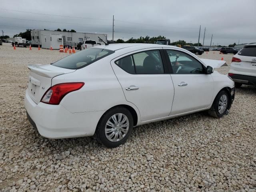
[(51, 64), (28, 65), (28, 68), (30, 69), (28, 94), (36, 104), (40, 102), (44, 93), (51, 87), (52, 78), (76, 71), (52, 66)]

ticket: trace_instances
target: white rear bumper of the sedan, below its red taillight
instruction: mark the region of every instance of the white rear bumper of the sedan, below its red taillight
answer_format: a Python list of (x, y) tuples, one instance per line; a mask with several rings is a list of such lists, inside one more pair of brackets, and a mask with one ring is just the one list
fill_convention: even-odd
[(71, 113), (63, 106), (36, 104), (26, 90), (25, 108), (28, 120), (46, 138), (93, 136), (105, 111)]

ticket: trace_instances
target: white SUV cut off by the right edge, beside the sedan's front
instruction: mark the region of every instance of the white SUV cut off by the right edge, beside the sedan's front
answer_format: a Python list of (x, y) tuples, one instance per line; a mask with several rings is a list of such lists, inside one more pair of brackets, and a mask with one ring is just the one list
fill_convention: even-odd
[(256, 44), (247, 44), (233, 58), (228, 72), (236, 88), (242, 84), (256, 85)]

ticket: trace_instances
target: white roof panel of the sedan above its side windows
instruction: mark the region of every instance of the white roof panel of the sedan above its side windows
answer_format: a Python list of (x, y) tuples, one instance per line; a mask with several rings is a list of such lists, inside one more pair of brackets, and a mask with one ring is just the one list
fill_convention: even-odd
[(176, 46), (170, 46), (170, 45), (161, 45), (161, 44), (147, 44), (147, 43), (113, 43), (113, 44), (108, 44), (108, 45), (100, 45), (100, 46), (96, 46), (94, 48), (105, 48), (108, 50), (112, 50), (112, 51), (116, 51), (119, 49), (124, 49), (124, 48), (130, 48), (130, 47), (136, 47), (138, 49), (146, 49), (146, 48), (157, 48), (157, 47), (166, 47), (166, 48), (170, 48), (170, 47), (175, 47), (178, 48)]

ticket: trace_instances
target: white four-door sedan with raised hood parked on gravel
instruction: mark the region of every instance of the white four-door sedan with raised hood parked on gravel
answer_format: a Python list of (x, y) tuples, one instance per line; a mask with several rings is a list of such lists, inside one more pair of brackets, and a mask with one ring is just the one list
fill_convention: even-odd
[(220, 118), (234, 100), (234, 82), (214, 70), (224, 64), (168, 45), (89, 48), (28, 66), (28, 120), (47, 138), (95, 136), (116, 147), (134, 126), (203, 110)]

